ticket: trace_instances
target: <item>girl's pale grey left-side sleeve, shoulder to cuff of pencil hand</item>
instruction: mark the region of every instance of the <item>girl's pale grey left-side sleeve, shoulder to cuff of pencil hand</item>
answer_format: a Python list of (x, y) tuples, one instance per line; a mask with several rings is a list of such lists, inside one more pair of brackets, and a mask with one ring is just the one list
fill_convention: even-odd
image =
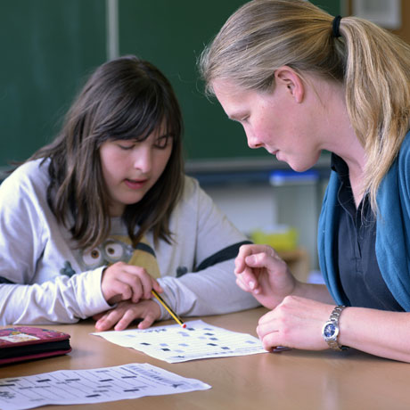
[(46, 201), (46, 164), (38, 163), (22, 165), (0, 185), (1, 324), (75, 323), (110, 308), (102, 268), (61, 275), (70, 249)]

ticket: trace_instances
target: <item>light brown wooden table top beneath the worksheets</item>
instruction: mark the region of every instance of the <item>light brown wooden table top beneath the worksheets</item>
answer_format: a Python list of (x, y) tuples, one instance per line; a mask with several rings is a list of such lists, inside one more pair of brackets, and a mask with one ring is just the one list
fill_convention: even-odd
[[(256, 336), (264, 308), (202, 319), (225, 329)], [(172, 322), (168, 322), (171, 324)], [(165, 322), (164, 324), (167, 324)], [(40, 326), (41, 327), (41, 326)], [(410, 408), (410, 365), (373, 357), (357, 350), (311, 352), (291, 350), (243, 357), (210, 358), (168, 364), (132, 348), (91, 336), (92, 322), (44, 326), (69, 332), (69, 355), (0, 367), (0, 377), (59, 369), (86, 369), (127, 363), (150, 363), (184, 377), (209, 383), (212, 389), (168, 396), (136, 398), (78, 409), (197, 410), (300, 409), (397, 410)], [(45, 408), (45, 407), (44, 407)], [(61, 406), (47, 406), (47, 410)]]

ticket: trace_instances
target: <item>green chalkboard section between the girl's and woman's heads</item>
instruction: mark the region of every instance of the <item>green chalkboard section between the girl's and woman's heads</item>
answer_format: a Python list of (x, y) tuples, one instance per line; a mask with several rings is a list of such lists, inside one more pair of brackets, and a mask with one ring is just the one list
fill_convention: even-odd
[[(170, 79), (181, 102), (188, 160), (267, 157), (250, 150), (242, 127), (226, 118), (217, 101), (209, 102), (196, 70), (203, 45), (217, 34), (244, 0), (119, 0), (119, 51), (152, 61)], [(340, 12), (340, 0), (322, 0)]]

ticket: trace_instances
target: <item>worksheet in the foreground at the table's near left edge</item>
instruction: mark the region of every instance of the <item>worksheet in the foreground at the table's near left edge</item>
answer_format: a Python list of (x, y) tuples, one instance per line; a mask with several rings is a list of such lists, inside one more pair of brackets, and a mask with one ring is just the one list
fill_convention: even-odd
[(186, 379), (148, 363), (58, 370), (0, 379), (0, 409), (82, 405), (205, 389), (210, 389), (206, 383)]

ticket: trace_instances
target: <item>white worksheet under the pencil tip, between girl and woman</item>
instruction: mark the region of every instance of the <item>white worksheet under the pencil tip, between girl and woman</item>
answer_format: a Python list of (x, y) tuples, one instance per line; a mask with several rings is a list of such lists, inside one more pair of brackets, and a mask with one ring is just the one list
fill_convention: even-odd
[(141, 330), (92, 334), (125, 348), (135, 348), (168, 363), (266, 353), (260, 340), (250, 334), (231, 332), (201, 320), (185, 324), (185, 329), (179, 324), (170, 324)]

